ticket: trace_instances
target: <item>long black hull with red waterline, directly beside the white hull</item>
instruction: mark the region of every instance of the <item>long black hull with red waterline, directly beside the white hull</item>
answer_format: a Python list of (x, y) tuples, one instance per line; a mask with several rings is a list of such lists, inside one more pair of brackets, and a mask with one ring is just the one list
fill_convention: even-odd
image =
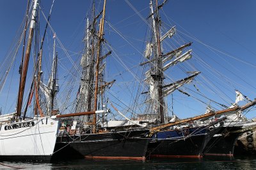
[[(54, 155), (68, 159), (137, 159), (146, 158), (148, 130), (82, 134), (80, 136), (59, 136)], [(64, 148), (63, 148), (64, 147)], [(61, 149), (62, 148), (62, 149)]]

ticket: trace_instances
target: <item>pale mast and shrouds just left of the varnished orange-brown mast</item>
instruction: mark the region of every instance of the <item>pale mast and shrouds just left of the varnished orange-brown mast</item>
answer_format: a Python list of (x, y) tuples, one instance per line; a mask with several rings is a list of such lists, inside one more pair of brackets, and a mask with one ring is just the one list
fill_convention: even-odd
[[(92, 7), (92, 22), (89, 20), (89, 15), (86, 19), (86, 36), (84, 37), (84, 53), (81, 57), (82, 76), (79, 85), (79, 92), (77, 94), (75, 112), (92, 111), (94, 78), (95, 78), (95, 4)], [(93, 115), (86, 115), (84, 123), (92, 125)], [(90, 123), (89, 123), (90, 122)]]

